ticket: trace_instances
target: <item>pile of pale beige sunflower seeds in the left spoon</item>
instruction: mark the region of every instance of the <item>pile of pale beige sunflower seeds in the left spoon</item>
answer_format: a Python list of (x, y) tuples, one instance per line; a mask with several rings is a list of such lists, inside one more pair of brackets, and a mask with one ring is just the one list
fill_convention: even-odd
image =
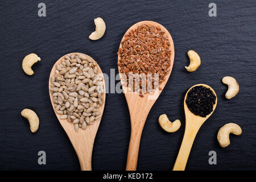
[(74, 123), (75, 130), (86, 129), (101, 117), (104, 104), (103, 78), (96, 61), (82, 53), (65, 55), (51, 77), (50, 91), (57, 114)]

